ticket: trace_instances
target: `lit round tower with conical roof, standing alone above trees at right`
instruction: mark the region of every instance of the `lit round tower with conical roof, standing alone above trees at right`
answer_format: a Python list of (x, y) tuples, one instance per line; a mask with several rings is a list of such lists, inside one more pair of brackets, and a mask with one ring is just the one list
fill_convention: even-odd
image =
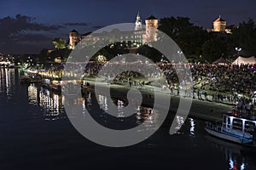
[(220, 15), (218, 16), (218, 19), (213, 21), (213, 28), (207, 29), (208, 32), (223, 32), (227, 34), (231, 34), (231, 30), (226, 28), (227, 21), (223, 20)]

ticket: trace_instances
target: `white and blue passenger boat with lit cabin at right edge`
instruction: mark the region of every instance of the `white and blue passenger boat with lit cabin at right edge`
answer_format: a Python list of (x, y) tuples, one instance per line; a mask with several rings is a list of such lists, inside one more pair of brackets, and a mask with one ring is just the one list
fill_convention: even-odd
[(256, 147), (256, 117), (236, 110), (224, 113), (222, 122), (207, 122), (207, 133), (236, 144)]

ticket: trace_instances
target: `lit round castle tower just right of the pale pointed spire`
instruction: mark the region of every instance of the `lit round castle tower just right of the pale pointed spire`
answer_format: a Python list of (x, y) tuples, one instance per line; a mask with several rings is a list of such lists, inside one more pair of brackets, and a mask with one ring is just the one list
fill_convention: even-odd
[(155, 42), (157, 40), (158, 20), (153, 16), (149, 16), (145, 20), (146, 34), (143, 35), (143, 42)]

